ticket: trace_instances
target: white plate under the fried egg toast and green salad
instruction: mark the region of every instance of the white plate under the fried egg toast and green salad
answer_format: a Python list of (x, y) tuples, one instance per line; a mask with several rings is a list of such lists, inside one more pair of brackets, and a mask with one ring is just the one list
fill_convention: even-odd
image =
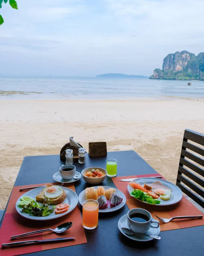
[[(21, 197), (26, 195), (26, 196), (29, 196), (29, 197), (31, 197), (35, 200), (36, 195), (38, 195), (40, 193), (40, 191), (42, 191), (44, 189), (44, 187), (45, 186), (29, 190), (26, 193), (24, 193), (23, 195), (21, 195)], [(23, 208), (18, 207), (18, 202), (20, 201), (21, 197), (18, 198), (18, 200), (16, 202), (17, 212), (25, 218), (28, 218), (30, 220), (37, 220), (37, 221), (46, 221), (46, 220), (52, 220), (52, 219), (55, 219), (55, 218), (60, 218), (64, 215), (68, 214), (69, 212), (72, 212), (72, 210), (75, 209), (75, 207), (78, 204), (78, 196), (72, 189), (68, 189), (66, 187), (61, 187), (61, 188), (66, 192), (66, 198), (63, 201), (63, 203), (69, 204), (69, 209), (68, 209), (67, 212), (60, 213), (60, 214), (55, 214), (55, 211), (54, 211), (50, 215), (45, 216), (45, 217), (32, 216), (29, 213), (20, 212), (23, 209)], [(42, 205), (42, 203), (40, 203), (40, 202), (39, 202), (39, 204)], [(50, 204), (50, 206), (53, 206), (53, 205)]]

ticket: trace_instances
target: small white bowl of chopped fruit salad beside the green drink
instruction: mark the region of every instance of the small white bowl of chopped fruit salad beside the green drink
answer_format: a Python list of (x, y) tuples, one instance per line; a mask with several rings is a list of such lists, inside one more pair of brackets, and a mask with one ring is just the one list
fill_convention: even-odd
[(83, 179), (89, 184), (100, 184), (105, 180), (107, 171), (101, 167), (89, 167), (81, 172)]

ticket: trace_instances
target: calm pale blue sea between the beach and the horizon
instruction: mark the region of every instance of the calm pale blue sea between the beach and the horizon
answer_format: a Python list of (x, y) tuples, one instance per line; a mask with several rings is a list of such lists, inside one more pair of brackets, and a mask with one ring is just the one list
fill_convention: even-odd
[(150, 79), (0, 76), (0, 99), (204, 99), (204, 81), (192, 81), (191, 86), (187, 83)]

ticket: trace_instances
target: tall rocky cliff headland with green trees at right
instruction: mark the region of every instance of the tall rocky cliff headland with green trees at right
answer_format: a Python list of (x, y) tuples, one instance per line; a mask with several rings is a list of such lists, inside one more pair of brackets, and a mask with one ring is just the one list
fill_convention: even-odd
[(181, 51), (164, 58), (162, 70), (156, 68), (149, 79), (204, 80), (204, 52), (198, 56)]

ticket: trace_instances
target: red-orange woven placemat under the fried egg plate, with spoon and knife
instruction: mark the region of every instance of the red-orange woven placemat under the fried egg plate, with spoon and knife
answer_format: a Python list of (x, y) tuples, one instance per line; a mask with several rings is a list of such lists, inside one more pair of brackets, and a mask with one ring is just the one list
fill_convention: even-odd
[[(55, 185), (55, 183), (49, 183)], [(40, 186), (46, 184), (37, 184), (37, 185), (29, 185), (29, 186)], [(76, 239), (73, 241), (64, 241), (59, 243), (52, 244), (34, 244), (28, 246), (19, 246), (19, 247), (11, 247), (11, 248), (0, 248), (0, 256), (15, 256), (26, 253), (34, 253), (42, 250), (55, 249), (60, 247), (67, 247), (77, 244), (87, 243), (86, 235), (84, 229), (82, 227), (82, 218), (80, 214), (80, 209), (78, 206), (69, 214), (64, 215), (61, 218), (57, 218), (49, 221), (32, 221), (20, 216), (15, 209), (15, 204), (17, 199), (22, 196), (25, 191), (20, 192), (19, 188), (28, 187), (27, 186), (14, 186), (11, 197), (9, 199), (8, 207), (6, 208), (6, 214), (3, 219), (3, 223), (0, 229), (0, 244), (6, 244), (17, 241), (26, 241), (26, 240), (44, 240), (44, 239), (54, 239), (54, 238), (63, 238), (63, 237), (75, 237)], [(71, 185), (66, 185), (69, 189), (75, 191), (75, 187), (73, 183)], [(22, 233), (31, 232), (34, 230), (41, 230), (46, 228), (55, 229), (58, 225), (72, 221), (72, 227), (67, 230), (65, 233), (57, 235), (51, 232), (45, 232), (41, 234), (35, 234), (32, 236), (27, 236), (21, 239), (11, 240), (11, 236), (19, 235)]]

